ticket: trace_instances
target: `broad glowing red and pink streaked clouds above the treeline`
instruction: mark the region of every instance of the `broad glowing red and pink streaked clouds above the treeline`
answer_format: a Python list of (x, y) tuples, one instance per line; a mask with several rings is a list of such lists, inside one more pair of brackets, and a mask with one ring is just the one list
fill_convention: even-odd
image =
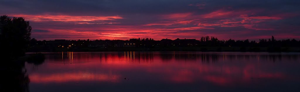
[[(192, 6), (203, 4), (192, 4)], [(22, 16), (31, 21), (34, 29), (49, 30), (47, 33), (32, 32), (33, 36), (49, 35), (40, 37), (43, 39), (130, 39), (130, 38), (166, 38), (176, 39), (177, 36), (196, 38), (202, 35), (224, 37), (220, 32), (207, 32), (218, 27), (244, 27), (241, 31), (248, 30), (286, 30), (278, 29), (265, 24), (270, 21), (285, 19), (289, 14), (258, 16), (261, 10), (234, 10), (219, 9), (206, 14), (196, 12), (171, 13), (158, 15), (159, 21), (143, 24), (130, 24), (119, 19), (126, 20), (121, 16), (70, 16), (70, 15), (26, 15)], [(60, 24), (59, 24), (60, 23)], [(110, 25), (108, 25), (110, 24)], [(293, 30), (296, 30), (293, 27)], [(201, 33), (205, 30), (206, 33)], [(193, 33), (193, 32), (198, 33)], [(178, 35), (181, 33), (183, 35)], [(50, 36), (53, 35), (53, 36)], [(57, 36), (55, 36), (57, 35)], [(220, 37), (221, 36), (221, 37)], [(229, 34), (226, 34), (229, 36)], [(230, 35), (232, 36), (232, 35)], [(286, 36), (288, 37), (288, 36)], [(250, 37), (249, 37), (250, 38)], [(295, 37), (299, 38), (299, 37)]]

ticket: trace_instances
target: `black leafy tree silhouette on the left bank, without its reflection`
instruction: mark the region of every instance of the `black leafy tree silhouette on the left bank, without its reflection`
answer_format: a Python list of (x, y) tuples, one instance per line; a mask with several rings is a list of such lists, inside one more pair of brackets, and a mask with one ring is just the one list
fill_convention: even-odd
[(4, 56), (23, 56), (29, 45), (31, 26), (22, 17), (0, 16), (0, 48)]

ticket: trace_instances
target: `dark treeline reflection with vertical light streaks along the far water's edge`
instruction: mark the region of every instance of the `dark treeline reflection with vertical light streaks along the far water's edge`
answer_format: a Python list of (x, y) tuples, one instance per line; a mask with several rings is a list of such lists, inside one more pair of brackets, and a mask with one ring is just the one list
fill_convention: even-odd
[[(49, 55), (49, 60), (51, 62), (72, 64), (72, 63), (85, 63), (90, 62), (88, 59), (103, 59), (100, 61), (107, 61), (109, 58), (120, 59), (123, 57), (124, 62), (150, 62), (154, 58), (161, 59), (162, 62), (168, 61), (188, 61), (196, 62), (201, 61), (203, 63), (213, 63), (220, 61), (272, 61), (280, 62), (283, 61), (282, 58), (286, 61), (296, 61), (299, 59), (298, 54), (269, 54), (269, 53), (163, 53), (163, 52), (134, 52), (127, 51), (122, 53), (76, 53), (74, 52), (62, 52), (60, 54)], [(65, 55), (67, 54), (67, 55)], [(58, 60), (61, 59), (61, 60)], [(75, 62), (73, 62), (73, 59)]]

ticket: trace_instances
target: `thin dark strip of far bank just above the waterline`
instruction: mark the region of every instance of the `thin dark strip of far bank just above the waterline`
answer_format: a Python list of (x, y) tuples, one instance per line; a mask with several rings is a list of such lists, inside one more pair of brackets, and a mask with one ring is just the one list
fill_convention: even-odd
[(28, 52), (117, 52), (117, 51), (201, 51), (201, 52), (300, 52), (300, 47), (83, 47), (31, 49)]

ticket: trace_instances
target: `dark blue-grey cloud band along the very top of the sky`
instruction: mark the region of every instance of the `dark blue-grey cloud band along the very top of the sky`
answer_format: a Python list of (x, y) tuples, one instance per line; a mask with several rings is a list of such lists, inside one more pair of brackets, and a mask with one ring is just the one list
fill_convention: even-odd
[[(189, 6), (205, 4), (205, 9)], [(178, 12), (205, 13), (220, 8), (299, 10), (298, 0), (3, 0), (3, 13), (67, 13), (72, 15), (135, 15)], [(7, 10), (8, 9), (8, 10)], [(13, 11), (9, 11), (13, 10)]]

